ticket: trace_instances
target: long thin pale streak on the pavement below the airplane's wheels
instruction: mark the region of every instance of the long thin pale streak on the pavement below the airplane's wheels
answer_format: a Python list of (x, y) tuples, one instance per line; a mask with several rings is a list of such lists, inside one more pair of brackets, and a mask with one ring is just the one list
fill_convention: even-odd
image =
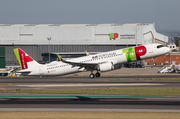
[(27, 87), (83, 87), (83, 86), (157, 86), (165, 85), (160, 83), (128, 83), (128, 84), (46, 84), (46, 85), (17, 85)]

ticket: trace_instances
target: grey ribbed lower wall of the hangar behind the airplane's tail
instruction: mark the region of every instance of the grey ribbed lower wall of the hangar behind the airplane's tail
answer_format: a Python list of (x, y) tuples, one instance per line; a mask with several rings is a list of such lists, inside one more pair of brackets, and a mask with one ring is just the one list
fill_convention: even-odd
[[(42, 53), (48, 53), (49, 45), (3, 45), (6, 49), (6, 65), (18, 64), (13, 52), (14, 48), (21, 48), (36, 61), (42, 61)], [(125, 48), (122, 45), (50, 45), (50, 52), (106, 52)]]

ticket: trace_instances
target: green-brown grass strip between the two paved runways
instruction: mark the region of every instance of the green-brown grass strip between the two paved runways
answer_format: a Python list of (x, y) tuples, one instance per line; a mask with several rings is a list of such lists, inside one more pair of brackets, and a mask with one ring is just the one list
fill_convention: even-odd
[(52, 93), (52, 94), (124, 94), (180, 96), (180, 88), (122, 88), (122, 89), (52, 89), (52, 90), (0, 90), (0, 93)]

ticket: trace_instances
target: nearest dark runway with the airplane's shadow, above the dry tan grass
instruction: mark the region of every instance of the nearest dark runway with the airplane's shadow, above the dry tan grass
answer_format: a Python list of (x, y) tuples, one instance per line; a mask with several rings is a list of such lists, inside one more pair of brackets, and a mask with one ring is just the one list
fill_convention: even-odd
[(0, 111), (180, 112), (179, 99), (1, 98)]

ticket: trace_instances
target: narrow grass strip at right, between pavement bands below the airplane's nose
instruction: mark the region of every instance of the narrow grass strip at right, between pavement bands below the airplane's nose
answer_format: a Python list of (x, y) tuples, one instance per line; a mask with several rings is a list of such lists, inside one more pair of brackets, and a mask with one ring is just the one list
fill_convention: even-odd
[(101, 79), (101, 81), (180, 81), (180, 78)]

